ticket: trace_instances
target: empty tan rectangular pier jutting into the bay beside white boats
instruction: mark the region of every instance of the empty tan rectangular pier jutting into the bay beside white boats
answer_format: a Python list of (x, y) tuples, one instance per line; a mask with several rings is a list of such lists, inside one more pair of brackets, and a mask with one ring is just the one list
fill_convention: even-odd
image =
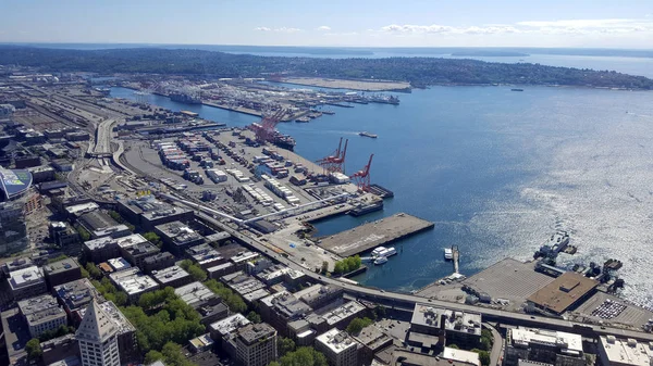
[(341, 256), (352, 256), (433, 227), (431, 222), (399, 213), (322, 238), (319, 245)]

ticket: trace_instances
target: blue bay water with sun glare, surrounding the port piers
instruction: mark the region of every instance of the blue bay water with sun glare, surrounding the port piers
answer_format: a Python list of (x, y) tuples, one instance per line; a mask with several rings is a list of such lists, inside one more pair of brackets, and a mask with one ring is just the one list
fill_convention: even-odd
[[(134, 98), (128, 89), (112, 94)], [(560, 257), (563, 265), (621, 260), (626, 294), (650, 302), (653, 258), (642, 253), (653, 243), (653, 92), (434, 87), (399, 97), (398, 106), (334, 106), (335, 115), (280, 125), (311, 160), (349, 138), (346, 172), (374, 153), (372, 181), (395, 192), (383, 212), (322, 222), (321, 235), (397, 212), (435, 222), (434, 230), (397, 243), (403, 253), (357, 280), (405, 291), (426, 286), (452, 273), (443, 261), (452, 244), (460, 248), (463, 274), (472, 275), (505, 256), (531, 257), (562, 228), (579, 247), (576, 256)], [(146, 98), (231, 126), (257, 121)], [(361, 138), (361, 130), (379, 138)]]

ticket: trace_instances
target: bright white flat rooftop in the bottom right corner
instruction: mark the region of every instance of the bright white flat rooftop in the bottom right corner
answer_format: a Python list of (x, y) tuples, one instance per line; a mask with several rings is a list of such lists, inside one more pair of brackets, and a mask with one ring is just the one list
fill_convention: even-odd
[(633, 339), (616, 339), (613, 336), (601, 336), (601, 346), (607, 361), (619, 365), (649, 366), (653, 357), (653, 343), (639, 343)]

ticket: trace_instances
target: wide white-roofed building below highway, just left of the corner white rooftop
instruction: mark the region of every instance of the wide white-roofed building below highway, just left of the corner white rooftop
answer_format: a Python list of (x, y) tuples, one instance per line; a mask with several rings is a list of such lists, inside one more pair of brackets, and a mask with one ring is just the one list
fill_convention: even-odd
[(580, 335), (519, 327), (508, 329), (505, 344), (504, 366), (518, 366), (520, 361), (586, 365)]

